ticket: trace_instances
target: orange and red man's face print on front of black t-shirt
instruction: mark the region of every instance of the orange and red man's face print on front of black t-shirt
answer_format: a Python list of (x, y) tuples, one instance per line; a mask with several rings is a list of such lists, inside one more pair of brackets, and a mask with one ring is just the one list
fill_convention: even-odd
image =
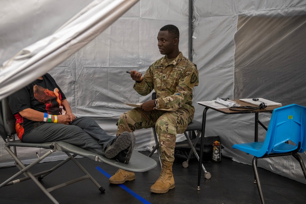
[(61, 103), (62, 96), (58, 88), (55, 88), (53, 91), (50, 91), (49, 89), (43, 88), (42, 86), (34, 85), (33, 92), (35, 99), (46, 105), (46, 111), (48, 114), (66, 114), (65, 107)]

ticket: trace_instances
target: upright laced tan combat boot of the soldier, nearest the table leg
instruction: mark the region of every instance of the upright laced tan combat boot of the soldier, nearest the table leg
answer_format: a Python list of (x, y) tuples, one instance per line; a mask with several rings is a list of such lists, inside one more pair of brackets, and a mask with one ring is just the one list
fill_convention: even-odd
[(160, 173), (159, 179), (151, 186), (151, 192), (166, 193), (169, 189), (174, 188), (172, 164), (173, 162), (162, 160), (162, 172)]

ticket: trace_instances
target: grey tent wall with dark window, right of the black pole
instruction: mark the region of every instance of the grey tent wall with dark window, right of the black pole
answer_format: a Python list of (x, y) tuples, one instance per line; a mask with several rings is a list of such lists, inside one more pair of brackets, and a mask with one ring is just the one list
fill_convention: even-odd
[[(247, 43), (246, 41), (252, 41), (244, 47), (243, 51), (240, 47), (236, 47), (238, 42), (235, 41), (235, 35), (237, 37), (239, 34), (237, 32), (239, 16), (271, 17), (270, 21), (272, 21), (273, 17), (305, 15), (305, 1), (195, 0), (193, 13), (195, 19), (193, 61), (197, 64), (200, 74), (200, 86), (196, 88), (194, 102), (214, 100), (217, 97), (229, 97), (230, 99), (263, 97), (284, 105), (291, 103), (306, 105), (304, 98), (305, 80), (302, 77), (305, 76), (306, 71), (306, 44), (303, 40), (306, 35), (306, 24), (304, 21), (301, 21), (296, 28), (296, 30), (300, 29), (298, 36), (302, 38), (296, 40), (299, 45), (297, 43), (286, 45), (289, 40), (288, 36), (294, 32), (294, 28), (290, 28), (292, 30), (289, 31), (279, 29), (281, 32), (278, 35), (282, 37), (283, 41), (279, 40), (278, 42), (271, 39), (276, 42), (273, 44), (266, 42), (271, 44), (267, 50), (274, 50), (274, 55), (271, 53), (268, 55), (266, 50), (258, 50), (258, 45), (263, 43), (260, 38), (265, 39), (267, 36), (271, 36), (272, 34), (269, 32), (261, 33), (262, 36), (256, 36), (256, 33), (260, 31), (258, 29), (256, 32), (248, 33), (248, 36), (240, 34), (240, 38), (245, 37), (244, 44)], [(247, 27), (246, 24), (241, 27)], [(285, 23), (282, 26), (285, 27)], [(252, 39), (255, 37), (259, 39)], [(286, 49), (290, 51), (286, 51)], [(296, 59), (289, 55), (290, 52), (295, 53), (295, 50), (301, 53), (301, 57)], [(282, 55), (284, 52), (288, 55)], [(235, 56), (237, 54), (238, 56)], [(282, 56), (282, 59), (278, 58), (278, 54)], [(293, 55), (299, 56), (296, 53)], [(242, 59), (244, 64), (237, 65), (238, 62), (242, 63)], [(276, 60), (282, 60), (284, 65), (279, 65), (275, 62)], [(263, 67), (263, 62), (268, 65)], [(287, 74), (287, 77), (282, 76), (284, 73)], [(247, 75), (248, 78), (242, 79), (242, 75), (238, 76), (237, 74), (244, 74), (244, 77)], [(195, 118), (201, 119), (204, 108), (199, 104), (194, 104), (197, 110)], [(262, 113), (259, 114), (259, 119), (265, 126), (268, 126), (270, 116), (269, 113)], [(264, 140), (265, 134), (266, 131), (259, 127), (259, 141)], [(231, 147), (233, 144), (254, 141), (254, 114), (225, 115), (208, 110), (205, 136), (216, 135), (220, 136), (222, 145), (225, 147), (222, 149), (223, 156), (231, 157), (234, 161), (251, 164), (252, 155), (233, 150)], [(304, 153), (301, 156), (306, 159)], [(258, 160), (258, 166), (306, 183), (300, 165), (293, 157)]]

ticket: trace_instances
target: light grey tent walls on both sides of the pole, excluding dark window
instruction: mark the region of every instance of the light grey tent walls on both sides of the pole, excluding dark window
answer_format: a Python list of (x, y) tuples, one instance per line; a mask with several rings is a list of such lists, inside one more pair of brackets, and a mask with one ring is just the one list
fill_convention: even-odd
[[(20, 1), (1, 2), (1, 64), (23, 47), (52, 34), (91, 1), (64, 0), (54, 3), (28, 0), (22, 1), (21, 7), (17, 2)], [(50, 70), (49, 73), (62, 87), (73, 111), (77, 115), (94, 118), (107, 133), (115, 135), (119, 115), (130, 109), (123, 103), (141, 103), (151, 97), (139, 96), (132, 89), (133, 81), (125, 71), (144, 72), (161, 57), (156, 41), (159, 28), (166, 24), (177, 25), (181, 34), (180, 50), (188, 57), (188, 2), (140, 0), (102, 34)], [(275, 10), (278, 13), (294, 13), (295, 10), (304, 12), (305, 1), (194, 0), (193, 4), (192, 58), (197, 64), (200, 77), (200, 85), (195, 88), (194, 106), (195, 119), (201, 121), (203, 106), (196, 101), (217, 97), (235, 98), (234, 37), (238, 15), (256, 15), (258, 12), (264, 15)], [(256, 87), (256, 90), (259, 89), (263, 89), (263, 86)], [(270, 114), (260, 114), (259, 117), (266, 126), (269, 124)], [(259, 140), (263, 140), (265, 133), (259, 128)], [(145, 150), (154, 144), (151, 129), (137, 130), (135, 135), (136, 150)], [(222, 150), (224, 156), (251, 164), (252, 156), (232, 150), (231, 146), (254, 140), (252, 114), (229, 116), (208, 110), (205, 136), (216, 135), (220, 135), (222, 145), (225, 146)], [(2, 141), (0, 148), (0, 166), (13, 164), (6, 155)], [(39, 153), (39, 149), (37, 151)], [(305, 159), (304, 154), (301, 156)], [(25, 154), (24, 160), (32, 160), (34, 157), (35, 153), (31, 152), (30, 156)], [(53, 159), (61, 159), (61, 155)], [(294, 159), (265, 159), (259, 160), (258, 164), (305, 183), (303, 173)]]

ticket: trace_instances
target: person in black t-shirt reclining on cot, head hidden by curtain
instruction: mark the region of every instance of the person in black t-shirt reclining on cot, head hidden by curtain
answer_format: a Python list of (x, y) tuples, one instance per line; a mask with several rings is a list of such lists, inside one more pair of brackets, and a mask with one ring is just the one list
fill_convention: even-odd
[[(53, 90), (53, 91), (52, 91)], [(8, 97), (22, 142), (63, 141), (120, 162), (128, 163), (135, 145), (133, 133), (110, 136), (91, 118), (78, 117), (50, 74)]]

